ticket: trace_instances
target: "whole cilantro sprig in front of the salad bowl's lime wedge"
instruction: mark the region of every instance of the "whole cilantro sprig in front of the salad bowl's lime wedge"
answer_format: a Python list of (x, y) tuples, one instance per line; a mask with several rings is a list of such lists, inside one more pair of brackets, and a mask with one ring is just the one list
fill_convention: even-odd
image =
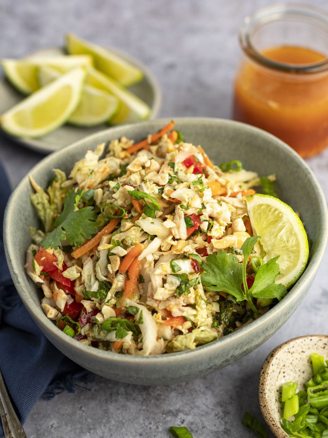
[(255, 307), (252, 297), (281, 300), (287, 293), (285, 286), (275, 283), (276, 276), (279, 274), (279, 265), (277, 263), (279, 255), (259, 265), (254, 283), (248, 288), (247, 259), (259, 239), (260, 236), (255, 236), (245, 240), (241, 247), (244, 255), (242, 264), (238, 264), (237, 257), (233, 254), (227, 254), (221, 250), (210, 254), (206, 258), (206, 262), (202, 264), (202, 269), (205, 272), (201, 274), (202, 285), (207, 290), (229, 293), (237, 301), (247, 300), (256, 314), (259, 314), (259, 311)]

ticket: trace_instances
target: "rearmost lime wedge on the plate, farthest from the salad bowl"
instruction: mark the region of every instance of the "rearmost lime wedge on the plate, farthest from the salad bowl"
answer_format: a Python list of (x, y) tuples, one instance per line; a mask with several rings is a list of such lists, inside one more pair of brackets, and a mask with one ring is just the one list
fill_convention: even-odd
[(115, 53), (104, 49), (97, 44), (84, 41), (73, 34), (66, 35), (66, 49), (73, 55), (86, 54), (91, 55), (94, 60), (94, 66), (107, 74), (122, 85), (129, 87), (143, 78), (143, 72), (132, 64), (117, 56)]

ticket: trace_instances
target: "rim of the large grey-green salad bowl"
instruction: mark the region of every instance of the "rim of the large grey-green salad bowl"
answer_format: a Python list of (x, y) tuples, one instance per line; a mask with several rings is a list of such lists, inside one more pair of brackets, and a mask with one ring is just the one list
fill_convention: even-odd
[[(53, 336), (61, 338), (61, 342), (66, 344), (66, 347), (68, 349), (75, 348), (80, 350), (81, 353), (89, 353), (97, 356), (99, 359), (102, 360), (108, 360), (115, 362), (116, 364), (119, 363), (133, 363), (133, 364), (162, 364), (164, 362), (171, 362), (173, 360), (174, 362), (178, 362), (181, 360), (181, 363), (185, 361), (185, 357), (194, 357), (201, 359), (201, 357), (205, 353), (216, 353), (220, 351), (220, 348), (224, 348), (227, 346), (227, 344), (231, 342), (238, 342), (238, 339), (243, 339), (244, 336), (247, 336), (247, 333), (251, 330), (256, 330), (256, 328), (259, 325), (265, 324), (266, 322), (269, 324), (270, 321), (275, 320), (276, 314), (285, 311), (288, 307), (291, 306), (294, 299), (301, 293), (301, 290), (304, 287), (309, 288), (312, 283), (312, 275), (313, 271), (314, 273), (318, 269), (318, 266), (321, 262), (321, 259), (323, 257), (326, 241), (328, 237), (328, 212), (327, 212), (327, 206), (325, 204), (325, 197), (324, 194), (321, 191), (321, 187), (315, 178), (313, 172), (309, 168), (309, 166), (306, 164), (306, 162), (292, 149), (290, 146), (286, 145), (283, 141), (276, 138), (274, 135), (267, 133), (266, 131), (263, 131), (259, 128), (253, 127), (248, 124), (244, 124), (241, 122), (236, 122), (234, 120), (227, 120), (227, 119), (219, 119), (219, 118), (212, 118), (212, 117), (174, 117), (174, 121), (177, 124), (213, 124), (213, 125), (230, 125), (230, 126), (237, 126), (241, 127), (243, 130), (251, 131), (255, 134), (260, 134), (262, 137), (269, 137), (271, 140), (275, 141), (278, 148), (283, 149), (284, 152), (286, 152), (288, 155), (292, 155), (293, 158), (298, 162), (298, 164), (303, 168), (303, 170), (307, 173), (307, 175), (311, 178), (314, 186), (316, 187), (318, 197), (321, 199), (321, 204), (324, 206), (321, 210), (322, 216), (321, 216), (321, 240), (318, 242), (318, 246), (316, 249), (315, 254), (312, 256), (310, 263), (307, 264), (307, 267), (305, 268), (302, 276), (297, 281), (297, 283), (290, 289), (289, 293), (278, 303), (276, 304), (272, 309), (270, 309), (268, 312), (266, 312), (264, 315), (261, 316), (261, 318), (256, 319), (255, 321), (252, 321), (251, 324), (244, 325), (240, 329), (232, 332), (229, 334), (229, 336), (221, 337), (220, 339), (213, 341), (211, 343), (198, 346), (195, 350), (185, 350), (185, 351), (179, 351), (175, 353), (170, 354), (158, 354), (154, 356), (133, 356), (133, 355), (127, 355), (127, 354), (108, 354), (107, 351), (99, 350), (97, 348), (89, 348), (89, 346), (86, 346), (82, 343), (76, 342), (73, 338), (70, 338), (70, 336), (67, 336), (65, 333), (61, 332), (57, 329), (56, 325), (53, 324), (49, 318), (47, 318), (42, 311), (42, 315), (40, 315), (41, 307), (36, 308), (35, 304), (32, 300), (32, 298), (26, 293), (24, 290), (24, 286), (21, 283), (20, 276), (22, 275), (22, 272), (25, 274), (25, 270), (21, 269), (20, 264), (15, 261), (15, 253), (10, 248), (10, 241), (8, 239), (8, 236), (10, 233), (8, 233), (8, 230), (10, 230), (10, 225), (12, 221), (14, 221), (14, 218), (11, 217), (11, 205), (13, 205), (16, 201), (17, 194), (21, 190), (22, 187), (28, 182), (28, 177), (32, 172), (37, 172), (38, 170), (42, 169), (42, 167), (48, 162), (52, 161), (53, 157), (55, 155), (63, 154), (65, 152), (70, 151), (70, 149), (75, 149), (78, 146), (84, 144), (88, 141), (94, 141), (96, 144), (97, 138), (101, 137), (104, 134), (107, 133), (114, 133), (115, 131), (121, 131), (124, 128), (139, 128), (142, 130), (143, 125), (150, 125), (149, 129), (151, 129), (151, 125), (165, 125), (169, 121), (171, 121), (171, 118), (161, 118), (161, 119), (155, 119), (155, 120), (146, 120), (143, 122), (138, 122), (135, 124), (128, 124), (128, 125), (120, 125), (117, 127), (111, 127), (102, 131), (98, 131), (97, 133), (91, 134), (83, 139), (80, 139), (78, 141), (75, 141), (71, 145), (68, 145), (59, 151), (53, 152), (50, 155), (47, 155), (45, 158), (43, 158), (41, 161), (39, 161), (20, 181), (20, 183), (17, 185), (17, 187), (14, 189), (12, 194), (10, 195), (9, 201), (7, 203), (7, 207), (4, 214), (4, 221), (3, 221), (3, 236), (4, 236), (4, 247), (6, 252), (6, 258), (8, 267), (10, 270), (10, 274), (13, 277), (14, 284), (17, 288), (17, 291), (25, 305), (27, 307), (28, 311), (32, 315), (32, 317), (38, 321), (40, 325), (43, 326), (46, 332), (52, 332)], [(41, 318), (40, 318), (41, 316)], [(222, 347), (220, 347), (222, 346)], [(111, 353), (111, 352), (109, 352)], [(187, 355), (187, 356), (186, 356)]]

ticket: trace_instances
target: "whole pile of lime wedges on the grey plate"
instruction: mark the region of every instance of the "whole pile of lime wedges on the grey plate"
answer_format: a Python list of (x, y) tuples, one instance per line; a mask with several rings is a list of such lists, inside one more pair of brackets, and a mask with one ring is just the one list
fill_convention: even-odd
[(149, 106), (125, 88), (140, 81), (142, 71), (72, 34), (67, 35), (66, 49), (69, 55), (2, 60), (11, 84), (31, 95), (0, 117), (4, 131), (40, 137), (66, 122), (91, 127), (150, 116)]

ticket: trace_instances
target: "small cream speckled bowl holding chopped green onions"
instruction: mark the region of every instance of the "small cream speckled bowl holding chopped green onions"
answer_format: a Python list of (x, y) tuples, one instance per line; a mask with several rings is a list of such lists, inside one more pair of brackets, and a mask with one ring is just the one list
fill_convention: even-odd
[(265, 359), (258, 384), (258, 399), (262, 415), (277, 438), (289, 438), (283, 431), (281, 388), (283, 383), (295, 381), (297, 389), (313, 376), (311, 353), (328, 359), (328, 336), (310, 335), (291, 339), (276, 347)]

